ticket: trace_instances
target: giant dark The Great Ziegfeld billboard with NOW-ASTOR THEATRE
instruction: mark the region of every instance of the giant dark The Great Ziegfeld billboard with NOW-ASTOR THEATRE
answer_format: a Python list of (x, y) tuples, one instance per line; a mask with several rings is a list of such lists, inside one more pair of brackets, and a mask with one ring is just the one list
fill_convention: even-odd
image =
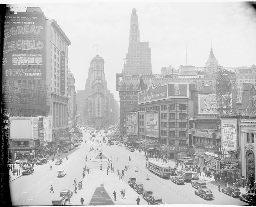
[(46, 20), (43, 13), (6, 10), (3, 78), (46, 78)]

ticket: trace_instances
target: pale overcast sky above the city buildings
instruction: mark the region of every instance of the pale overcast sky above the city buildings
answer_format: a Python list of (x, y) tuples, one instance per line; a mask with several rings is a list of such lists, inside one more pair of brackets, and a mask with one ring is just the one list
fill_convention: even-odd
[[(212, 45), (219, 65), (256, 65), (256, 13), (245, 2), (26, 3), (9, 4), (16, 11), (40, 7), (55, 19), (71, 41), (69, 67), (76, 90), (85, 89), (91, 59), (105, 60), (107, 87), (115, 91), (128, 52), (131, 10), (137, 9), (140, 41), (149, 41), (152, 73), (171, 64), (205, 66)], [(18, 8), (17, 8), (18, 7)], [(20, 8), (21, 7), (21, 8)]]

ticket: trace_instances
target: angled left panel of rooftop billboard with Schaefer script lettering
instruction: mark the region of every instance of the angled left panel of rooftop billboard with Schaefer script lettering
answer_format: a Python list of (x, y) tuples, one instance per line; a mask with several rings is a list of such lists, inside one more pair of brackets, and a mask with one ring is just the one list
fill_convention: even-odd
[(147, 91), (139, 92), (139, 104), (151, 102), (155, 100), (162, 100), (167, 98), (167, 86), (157, 86)]

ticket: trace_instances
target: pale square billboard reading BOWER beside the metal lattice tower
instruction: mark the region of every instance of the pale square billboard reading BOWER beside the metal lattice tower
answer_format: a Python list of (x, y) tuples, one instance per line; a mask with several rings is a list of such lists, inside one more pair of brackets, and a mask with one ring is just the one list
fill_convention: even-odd
[(217, 114), (216, 94), (198, 95), (199, 114)]

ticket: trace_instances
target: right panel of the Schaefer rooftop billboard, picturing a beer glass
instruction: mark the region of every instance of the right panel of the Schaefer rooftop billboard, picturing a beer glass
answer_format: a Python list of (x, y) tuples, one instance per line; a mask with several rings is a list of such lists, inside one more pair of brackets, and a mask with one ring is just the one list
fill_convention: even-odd
[(189, 85), (186, 83), (170, 83), (168, 84), (169, 98), (188, 98)]

